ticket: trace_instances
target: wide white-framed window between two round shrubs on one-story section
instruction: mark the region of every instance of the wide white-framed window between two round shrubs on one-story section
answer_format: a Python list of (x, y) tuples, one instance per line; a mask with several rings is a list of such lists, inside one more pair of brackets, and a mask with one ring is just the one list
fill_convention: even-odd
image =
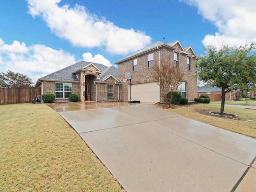
[(55, 82), (55, 98), (69, 98), (72, 94), (72, 83)]

